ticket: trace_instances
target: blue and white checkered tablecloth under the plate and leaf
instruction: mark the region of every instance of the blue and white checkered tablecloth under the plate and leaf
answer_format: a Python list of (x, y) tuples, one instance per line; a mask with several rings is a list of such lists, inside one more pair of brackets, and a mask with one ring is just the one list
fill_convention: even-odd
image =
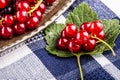
[[(100, 19), (119, 19), (120, 0), (76, 0), (56, 22), (63, 23), (67, 14), (78, 4), (86, 2)], [(79, 80), (75, 58), (58, 58), (45, 50), (44, 33), (0, 53), (0, 80)], [(81, 64), (85, 80), (120, 80), (120, 36), (111, 51), (100, 55), (82, 56)]]

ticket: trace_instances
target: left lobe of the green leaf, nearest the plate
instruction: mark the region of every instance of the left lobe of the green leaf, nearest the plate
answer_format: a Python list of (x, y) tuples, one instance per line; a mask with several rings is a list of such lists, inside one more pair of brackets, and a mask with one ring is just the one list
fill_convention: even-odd
[(48, 28), (45, 30), (45, 39), (47, 42), (47, 46), (46, 46), (46, 50), (56, 56), (59, 57), (71, 57), (73, 56), (72, 54), (70, 54), (70, 52), (68, 51), (62, 51), (57, 49), (57, 40), (60, 37), (60, 33), (63, 30), (63, 28), (65, 27), (64, 24), (51, 24), (50, 26), (48, 26)]

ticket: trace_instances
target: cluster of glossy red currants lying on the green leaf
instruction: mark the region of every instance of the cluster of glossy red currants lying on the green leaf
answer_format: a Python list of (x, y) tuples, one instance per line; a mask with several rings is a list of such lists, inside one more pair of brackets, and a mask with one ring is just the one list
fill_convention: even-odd
[(58, 48), (68, 49), (70, 52), (79, 52), (81, 48), (85, 51), (92, 51), (98, 41), (94, 38), (95, 36), (101, 40), (105, 38), (100, 21), (85, 22), (80, 26), (80, 31), (76, 25), (67, 24), (58, 39)]

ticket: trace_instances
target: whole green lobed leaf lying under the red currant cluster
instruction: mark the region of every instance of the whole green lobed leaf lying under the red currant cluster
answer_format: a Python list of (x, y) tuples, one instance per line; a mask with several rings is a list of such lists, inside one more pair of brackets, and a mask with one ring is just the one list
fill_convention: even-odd
[[(73, 12), (68, 14), (68, 17), (66, 19), (66, 23), (74, 23), (76, 25), (80, 25), (83, 22), (89, 21), (92, 22), (94, 20), (98, 19), (97, 14), (92, 11), (92, 9), (85, 3), (80, 4), (77, 8), (73, 10)], [(120, 31), (120, 25), (119, 21), (116, 19), (112, 20), (102, 20), (104, 31), (106, 33), (105, 40), (111, 47), (115, 46), (115, 40), (117, 36), (119, 35)], [(62, 51), (57, 48), (57, 40), (60, 37), (61, 31), (64, 29), (64, 24), (51, 24), (46, 30), (45, 30), (45, 40), (47, 42), (46, 50), (53, 55), (56, 55), (58, 57), (71, 57), (74, 56), (69, 51)], [(109, 48), (103, 44), (99, 43), (97, 44), (94, 51), (91, 52), (85, 52), (80, 51), (79, 54), (81, 55), (95, 55), (95, 54), (101, 54), (104, 51), (109, 50)]]

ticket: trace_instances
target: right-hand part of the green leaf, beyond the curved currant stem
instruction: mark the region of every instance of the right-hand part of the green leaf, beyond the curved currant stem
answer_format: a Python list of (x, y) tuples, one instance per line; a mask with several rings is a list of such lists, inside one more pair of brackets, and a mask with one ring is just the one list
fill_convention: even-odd
[[(103, 23), (104, 31), (106, 34), (104, 41), (107, 42), (111, 47), (114, 47), (115, 46), (114, 42), (120, 33), (119, 21), (116, 19), (102, 20), (102, 23)], [(97, 44), (96, 49), (94, 51), (86, 52), (86, 53), (82, 53), (82, 54), (91, 54), (91, 55), (94, 54), (95, 55), (95, 54), (101, 54), (106, 50), (109, 50), (109, 48), (105, 44), (99, 43), (99, 44)]]

